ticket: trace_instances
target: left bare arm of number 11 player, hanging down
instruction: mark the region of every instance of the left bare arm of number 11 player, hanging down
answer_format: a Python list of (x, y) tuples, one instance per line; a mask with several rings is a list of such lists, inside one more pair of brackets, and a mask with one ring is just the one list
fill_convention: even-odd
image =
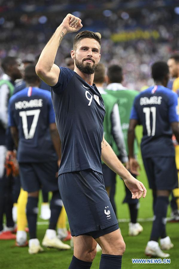
[(128, 129), (128, 149), (129, 149), (129, 165), (132, 174), (139, 175), (138, 169), (140, 165), (134, 158), (134, 139), (135, 139), (135, 127), (137, 125), (137, 120), (131, 119)]

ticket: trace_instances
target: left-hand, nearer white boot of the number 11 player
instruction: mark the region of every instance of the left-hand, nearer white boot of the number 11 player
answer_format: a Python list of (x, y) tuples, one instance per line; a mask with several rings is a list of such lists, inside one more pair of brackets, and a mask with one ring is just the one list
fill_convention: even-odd
[(170, 254), (164, 253), (160, 247), (158, 242), (156, 241), (149, 241), (147, 243), (146, 249), (145, 249), (146, 256), (154, 256), (154, 257), (161, 257), (161, 258), (168, 258)]

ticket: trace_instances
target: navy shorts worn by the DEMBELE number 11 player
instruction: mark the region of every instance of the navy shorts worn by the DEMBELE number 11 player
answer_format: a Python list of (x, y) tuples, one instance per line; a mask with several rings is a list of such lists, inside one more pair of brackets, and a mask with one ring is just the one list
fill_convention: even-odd
[(150, 189), (173, 190), (178, 188), (175, 157), (143, 158)]

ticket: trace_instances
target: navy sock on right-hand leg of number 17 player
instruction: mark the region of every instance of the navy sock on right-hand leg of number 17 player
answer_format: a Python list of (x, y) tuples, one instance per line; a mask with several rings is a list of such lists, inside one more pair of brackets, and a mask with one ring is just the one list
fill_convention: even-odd
[(62, 209), (62, 198), (60, 196), (59, 191), (53, 192), (53, 196), (50, 203), (51, 209), (51, 216), (50, 216), (50, 223), (49, 229), (55, 230), (56, 224)]

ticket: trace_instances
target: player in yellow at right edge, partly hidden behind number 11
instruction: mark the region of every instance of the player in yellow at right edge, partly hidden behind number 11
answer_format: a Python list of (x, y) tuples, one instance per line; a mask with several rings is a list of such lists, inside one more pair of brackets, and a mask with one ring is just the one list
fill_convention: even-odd
[[(171, 89), (176, 92), (179, 96), (179, 54), (173, 54), (168, 62), (169, 72), (171, 81), (169, 86)], [(178, 180), (179, 180), (179, 145), (176, 141), (176, 137), (173, 135), (172, 140), (175, 146), (175, 159), (176, 159), (176, 166), (178, 170)], [(172, 200), (170, 201), (170, 205), (172, 208), (172, 222), (179, 221), (179, 189), (175, 189), (172, 192)]]

